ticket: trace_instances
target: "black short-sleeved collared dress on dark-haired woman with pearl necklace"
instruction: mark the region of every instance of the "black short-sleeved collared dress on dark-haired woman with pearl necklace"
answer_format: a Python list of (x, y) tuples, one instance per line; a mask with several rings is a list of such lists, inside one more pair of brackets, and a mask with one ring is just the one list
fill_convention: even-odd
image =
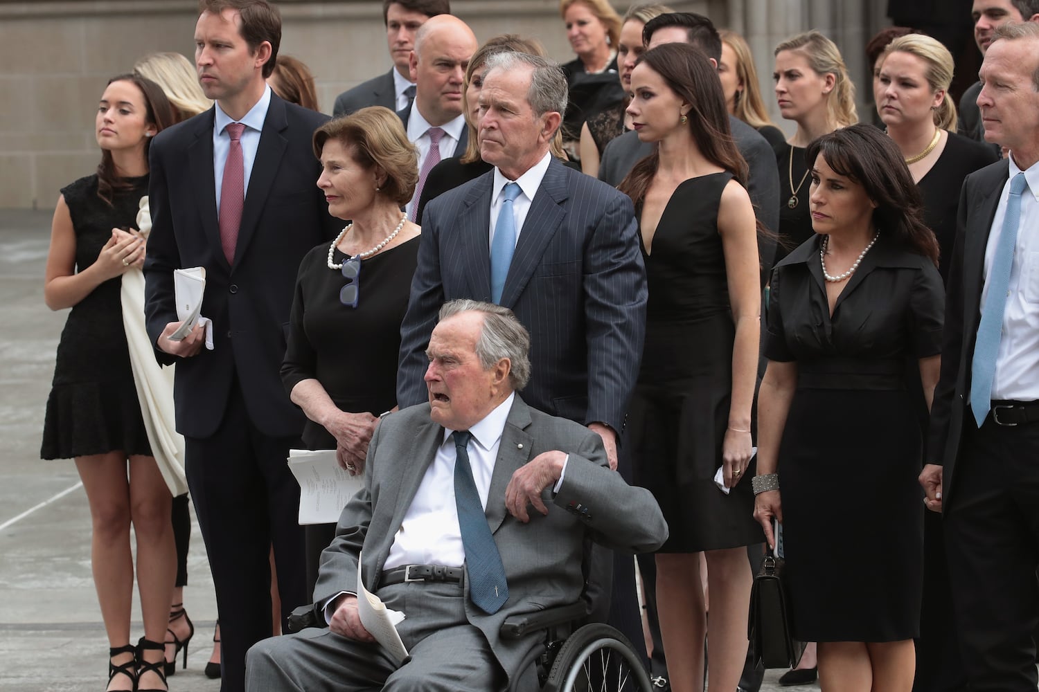
[(819, 243), (773, 272), (765, 345), (798, 373), (777, 468), (795, 633), (901, 641), (920, 628), (924, 521), (905, 363), (940, 353), (944, 292), (881, 234), (830, 316)]

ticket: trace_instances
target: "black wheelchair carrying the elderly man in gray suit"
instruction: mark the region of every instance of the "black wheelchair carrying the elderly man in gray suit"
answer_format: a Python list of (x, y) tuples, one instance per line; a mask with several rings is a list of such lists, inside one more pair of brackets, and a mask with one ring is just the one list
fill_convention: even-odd
[[(544, 647), (535, 647), (520, 669), (535, 666), (541, 692), (655, 692), (645, 664), (617, 630), (602, 622), (581, 625), (585, 602), (512, 615), (502, 624), (503, 639), (544, 631)], [(288, 631), (327, 627), (313, 605), (301, 606), (288, 619)], [(513, 681), (520, 676), (513, 676)], [(513, 682), (508, 692), (521, 692)]]

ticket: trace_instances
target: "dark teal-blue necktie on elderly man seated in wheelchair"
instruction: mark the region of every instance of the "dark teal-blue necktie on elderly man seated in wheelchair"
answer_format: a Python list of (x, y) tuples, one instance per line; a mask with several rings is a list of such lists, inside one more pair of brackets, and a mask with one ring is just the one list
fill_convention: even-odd
[(458, 528), (465, 548), (465, 565), (469, 568), (469, 596), (480, 610), (489, 614), (508, 601), (509, 586), (505, 581), (502, 556), (490, 534), (487, 517), (483, 514), (480, 494), (473, 480), (469, 465), (469, 445), (473, 434), (455, 431), (455, 504), (458, 506)]

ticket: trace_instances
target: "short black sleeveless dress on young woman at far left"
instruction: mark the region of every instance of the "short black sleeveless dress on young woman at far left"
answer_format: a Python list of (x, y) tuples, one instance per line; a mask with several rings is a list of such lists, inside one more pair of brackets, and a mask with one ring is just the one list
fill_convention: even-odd
[[(76, 233), (76, 271), (98, 259), (112, 228), (135, 228), (148, 176), (126, 178), (129, 190), (109, 205), (98, 197), (98, 176), (62, 188)], [(58, 342), (54, 380), (44, 419), (43, 459), (71, 459), (119, 450), (151, 456), (137, 400), (119, 293), (109, 279), (73, 306)]]

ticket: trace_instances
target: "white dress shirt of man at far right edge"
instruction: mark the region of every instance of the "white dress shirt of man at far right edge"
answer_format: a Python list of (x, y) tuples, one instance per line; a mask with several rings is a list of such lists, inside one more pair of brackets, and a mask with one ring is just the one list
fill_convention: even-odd
[[(1007, 216), (1010, 178), (1020, 170), (1011, 155), (1010, 175), (1003, 186), (985, 248), (986, 284), (982, 290), (982, 305), (985, 305), (987, 278)], [(1039, 164), (1024, 171), (1024, 179), (1029, 187), (1021, 193), (1021, 218), (1014, 264), (1010, 269), (1010, 295), (1003, 314), (992, 398), (1034, 402), (1039, 399)]]

